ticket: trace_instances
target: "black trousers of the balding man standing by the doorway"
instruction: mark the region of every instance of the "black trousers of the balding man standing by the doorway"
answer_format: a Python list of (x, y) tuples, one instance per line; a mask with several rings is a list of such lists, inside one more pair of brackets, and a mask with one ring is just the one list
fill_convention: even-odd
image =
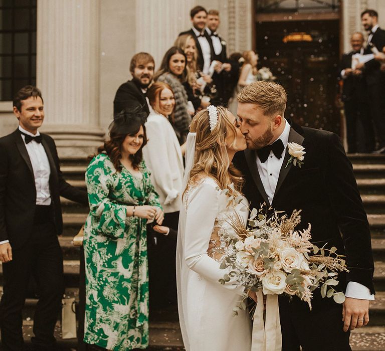
[(346, 135), (348, 152), (357, 152), (357, 124), (360, 122), (363, 135), (363, 151), (371, 152), (374, 150), (374, 131), (373, 122), (370, 116), (370, 106), (366, 102), (352, 99), (344, 102), (346, 116)]

